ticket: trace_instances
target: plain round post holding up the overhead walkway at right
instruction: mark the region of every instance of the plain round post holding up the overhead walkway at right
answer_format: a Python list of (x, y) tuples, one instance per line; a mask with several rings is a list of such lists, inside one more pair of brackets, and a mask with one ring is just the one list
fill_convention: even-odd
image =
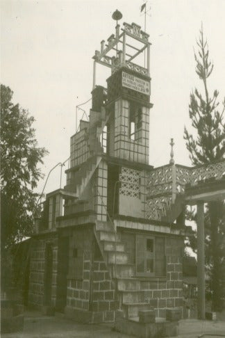
[(198, 318), (205, 319), (205, 234), (204, 202), (197, 202), (197, 287)]

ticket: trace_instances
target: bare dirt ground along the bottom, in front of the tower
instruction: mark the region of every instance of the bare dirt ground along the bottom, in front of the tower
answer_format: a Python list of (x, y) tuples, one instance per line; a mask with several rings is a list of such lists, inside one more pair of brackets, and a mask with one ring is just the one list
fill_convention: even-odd
[[(225, 312), (224, 312), (225, 314)], [(199, 321), (197, 319), (184, 319), (179, 322), (178, 338), (197, 338), (203, 333), (203, 338), (225, 337), (225, 316), (217, 321)], [(212, 335), (209, 335), (212, 334)], [(2, 334), (3, 338), (127, 338), (113, 330), (113, 324), (81, 324), (65, 319), (63, 315), (42, 316), (40, 312), (26, 312), (24, 318), (24, 331), (13, 334)]]

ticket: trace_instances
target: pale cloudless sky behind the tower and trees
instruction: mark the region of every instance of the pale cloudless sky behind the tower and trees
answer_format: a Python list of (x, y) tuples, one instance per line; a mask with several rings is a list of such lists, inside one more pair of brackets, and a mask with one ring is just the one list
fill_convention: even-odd
[[(120, 21), (140, 24), (142, 0), (1, 0), (1, 83), (14, 92), (13, 102), (35, 117), (34, 127), (44, 158), (45, 178), (69, 157), (75, 133), (76, 105), (91, 97), (94, 51), (115, 33), (113, 12)], [(150, 35), (151, 102), (149, 164), (169, 163), (174, 138), (176, 163), (190, 166), (183, 140), (190, 92), (203, 90), (194, 72), (199, 29), (208, 40), (214, 62), (209, 88), (225, 95), (225, 0), (149, 0), (146, 31)], [(97, 67), (97, 84), (109, 76)], [(89, 114), (90, 104), (83, 106)], [(81, 118), (81, 113), (78, 119)], [(65, 182), (65, 181), (63, 181)], [(44, 179), (38, 184), (42, 191)], [(60, 167), (51, 172), (45, 193), (60, 187)]]

